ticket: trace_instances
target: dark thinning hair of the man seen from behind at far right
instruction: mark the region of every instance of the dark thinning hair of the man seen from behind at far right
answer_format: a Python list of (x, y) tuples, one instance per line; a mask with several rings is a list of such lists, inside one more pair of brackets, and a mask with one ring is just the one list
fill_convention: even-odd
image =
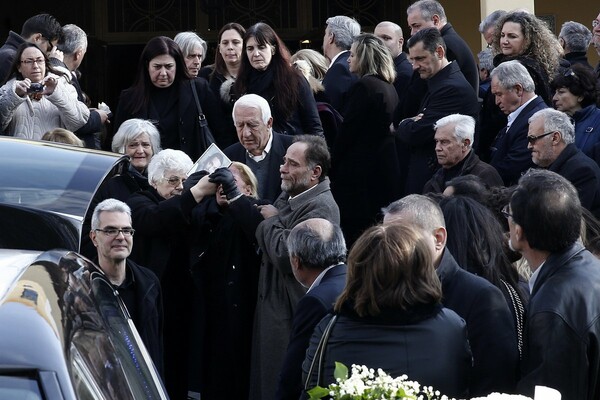
[(581, 231), (581, 202), (566, 178), (534, 169), (519, 179), (510, 200), (512, 219), (529, 246), (556, 253), (573, 245)]

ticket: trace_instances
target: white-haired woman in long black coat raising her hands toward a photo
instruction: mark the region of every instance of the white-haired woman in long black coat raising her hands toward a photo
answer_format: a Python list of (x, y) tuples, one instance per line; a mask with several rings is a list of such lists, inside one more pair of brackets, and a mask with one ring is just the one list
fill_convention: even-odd
[(191, 273), (198, 260), (191, 243), (197, 234), (192, 212), (217, 189), (208, 175), (184, 189), (192, 164), (180, 150), (162, 150), (148, 165), (150, 187), (127, 200), (136, 231), (130, 258), (150, 268), (163, 290), (164, 378), (173, 399), (186, 398), (188, 390), (200, 391), (199, 382), (188, 381), (188, 376), (199, 375), (190, 374), (189, 368), (192, 362), (199, 363), (202, 345), (199, 288)]

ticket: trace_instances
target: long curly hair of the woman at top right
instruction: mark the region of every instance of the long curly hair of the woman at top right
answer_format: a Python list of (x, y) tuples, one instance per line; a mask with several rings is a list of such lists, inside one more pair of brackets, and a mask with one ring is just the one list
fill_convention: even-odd
[(506, 22), (521, 26), (524, 38), (524, 50), (521, 56), (528, 56), (540, 63), (548, 76), (554, 76), (561, 58), (562, 47), (544, 21), (524, 11), (512, 11), (500, 17), (494, 30), (492, 50), (494, 55), (502, 53), (500, 34)]

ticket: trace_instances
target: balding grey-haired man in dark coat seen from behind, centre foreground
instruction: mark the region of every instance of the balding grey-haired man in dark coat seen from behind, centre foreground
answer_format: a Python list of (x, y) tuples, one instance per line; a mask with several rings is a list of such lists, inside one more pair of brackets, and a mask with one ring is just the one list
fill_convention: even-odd
[(326, 219), (296, 225), (287, 238), (292, 272), (308, 289), (294, 312), (276, 399), (297, 400), (303, 390), (302, 362), (315, 326), (333, 310), (346, 284), (346, 243), (342, 230)]

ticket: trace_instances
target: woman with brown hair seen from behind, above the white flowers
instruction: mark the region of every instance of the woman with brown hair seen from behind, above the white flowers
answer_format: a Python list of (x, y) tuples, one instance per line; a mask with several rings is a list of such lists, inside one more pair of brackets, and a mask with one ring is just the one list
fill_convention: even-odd
[(399, 222), (372, 227), (356, 241), (324, 346), (321, 382), (316, 381), (315, 353), (331, 315), (315, 328), (302, 365), (304, 382), (311, 378), (309, 389), (334, 383), (335, 362), (341, 362), (348, 368), (381, 368), (392, 377), (406, 374), (449, 397), (466, 398), (471, 368), (467, 328), (440, 303), (442, 287), (431, 238), (425, 235)]

